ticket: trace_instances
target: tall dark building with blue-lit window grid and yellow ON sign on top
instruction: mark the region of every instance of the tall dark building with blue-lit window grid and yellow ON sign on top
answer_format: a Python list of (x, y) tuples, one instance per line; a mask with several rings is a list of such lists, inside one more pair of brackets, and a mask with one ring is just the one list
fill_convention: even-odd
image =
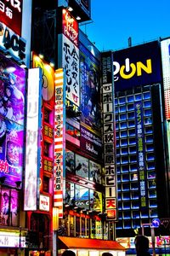
[[(150, 236), (153, 219), (169, 218), (169, 167), (161, 43), (114, 52), (116, 236)], [(166, 233), (162, 225), (156, 235)], [(168, 231), (167, 231), (168, 234)]]

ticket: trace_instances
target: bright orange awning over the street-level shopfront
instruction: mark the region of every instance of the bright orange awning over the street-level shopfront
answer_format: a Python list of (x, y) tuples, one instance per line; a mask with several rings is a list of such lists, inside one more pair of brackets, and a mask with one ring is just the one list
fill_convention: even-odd
[(126, 251), (117, 241), (58, 236), (60, 249), (93, 249)]

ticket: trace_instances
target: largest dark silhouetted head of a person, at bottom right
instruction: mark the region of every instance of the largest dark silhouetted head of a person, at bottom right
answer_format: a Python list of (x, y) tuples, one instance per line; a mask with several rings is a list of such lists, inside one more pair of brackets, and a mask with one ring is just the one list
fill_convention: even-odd
[(136, 236), (134, 239), (137, 256), (150, 256), (149, 247), (150, 241), (146, 236)]

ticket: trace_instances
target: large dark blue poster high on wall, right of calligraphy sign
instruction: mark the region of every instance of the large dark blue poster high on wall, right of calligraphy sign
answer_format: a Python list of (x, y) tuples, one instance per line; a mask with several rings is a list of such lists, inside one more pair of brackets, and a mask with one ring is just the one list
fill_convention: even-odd
[(80, 80), (82, 122), (100, 125), (99, 61), (80, 44)]

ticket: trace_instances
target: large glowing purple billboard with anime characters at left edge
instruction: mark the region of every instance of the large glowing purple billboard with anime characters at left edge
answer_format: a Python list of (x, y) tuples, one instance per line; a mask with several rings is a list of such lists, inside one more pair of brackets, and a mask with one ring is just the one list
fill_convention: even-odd
[(25, 94), (26, 70), (0, 54), (0, 177), (4, 183), (19, 188), (23, 171)]

